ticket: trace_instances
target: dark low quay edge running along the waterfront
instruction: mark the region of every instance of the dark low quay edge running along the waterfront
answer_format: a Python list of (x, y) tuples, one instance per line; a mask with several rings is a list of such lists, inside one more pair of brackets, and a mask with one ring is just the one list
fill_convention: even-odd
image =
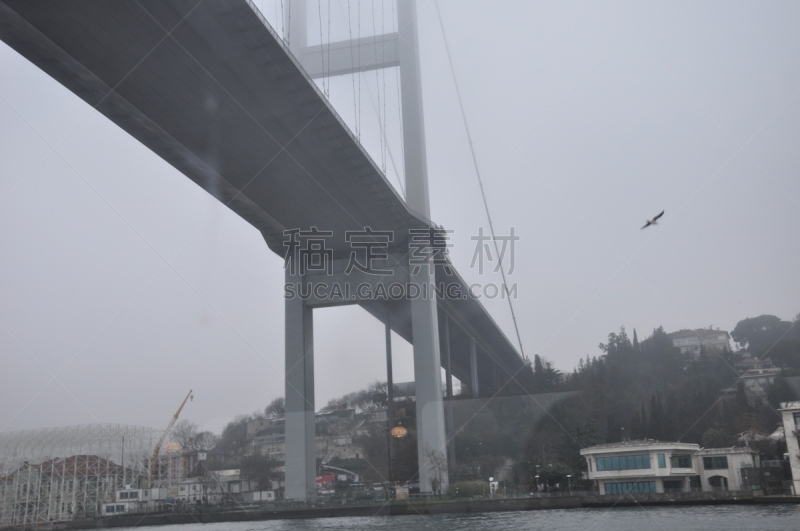
[(179, 524), (214, 524), (224, 522), (253, 522), (262, 520), (296, 520), (317, 518), (406, 516), (433, 514), (476, 514), (548, 509), (586, 509), (630, 506), (691, 506), (691, 505), (756, 505), (800, 504), (798, 496), (753, 496), (741, 492), (699, 492), (677, 494), (647, 494), (634, 496), (558, 496), (531, 498), (498, 498), (489, 500), (409, 501), (386, 505), (353, 505), (303, 507), (294, 509), (258, 509), (228, 512), (159, 513), (126, 515), (75, 520), (71, 522), (38, 523), (3, 528), (3, 531), (78, 530), (123, 527), (152, 527)]

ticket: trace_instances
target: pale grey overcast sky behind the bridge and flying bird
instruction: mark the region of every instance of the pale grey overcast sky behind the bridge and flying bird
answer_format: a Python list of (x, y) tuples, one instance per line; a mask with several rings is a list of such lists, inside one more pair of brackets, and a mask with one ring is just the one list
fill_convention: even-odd
[[(436, 9), (417, 2), (432, 217), (467, 280), (499, 282), (469, 267), (487, 222)], [(495, 229), (521, 237), (526, 354), (571, 370), (622, 324), (644, 337), (800, 312), (800, 4), (440, 8)], [(282, 395), (281, 258), (4, 44), (0, 72), (0, 431), (160, 427), (190, 388), (184, 416), (219, 429)], [(351, 81), (329, 91), (355, 128)], [(363, 82), (362, 140), (381, 165), (382, 78)], [(516, 343), (506, 301), (484, 304)], [(385, 378), (366, 312), (317, 311), (315, 329), (318, 407)], [(395, 346), (395, 378), (411, 379), (410, 347)]]

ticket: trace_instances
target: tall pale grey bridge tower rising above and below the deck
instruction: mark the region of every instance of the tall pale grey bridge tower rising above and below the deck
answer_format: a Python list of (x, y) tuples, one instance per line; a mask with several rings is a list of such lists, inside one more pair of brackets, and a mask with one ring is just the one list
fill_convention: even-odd
[[(416, 0), (397, 2), (397, 32), (318, 46), (307, 44), (306, 0), (287, 0), (284, 15), (289, 49), (312, 78), (399, 67), (405, 200), (409, 208), (430, 219)], [(408, 259), (404, 260), (407, 264)], [(432, 264), (412, 268), (408, 275), (408, 281), (418, 287), (434, 285)], [(286, 281), (298, 280), (307, 279), (293, 277), (287, 269)], [(437, 301), (435, 297), (417, 297), (410, 304), (420, 490), (431, 492), (436, 477), (446, 491), (447, 467), (442, 470), (432, 462), (433, 456), (441, 462), (448, 453)], [(286, 497), (307, 501), (316, 495), (312, 323), (310, 305), (301, 300), (286, 301)], [(448, 390), (451, 392), (450, 386)]]

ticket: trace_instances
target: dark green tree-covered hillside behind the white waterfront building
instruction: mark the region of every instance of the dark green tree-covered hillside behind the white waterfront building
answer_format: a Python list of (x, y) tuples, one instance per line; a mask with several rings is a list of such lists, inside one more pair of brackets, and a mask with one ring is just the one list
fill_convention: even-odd
[[(776, 429), (781, 401), (800, 400), (792, 385), (800, 377), (800, 319), (745, 319), (731, 336), (734, 350), (701, 350), (692, 356), (673, 347), (660, 327), (642, 340), (635, 330), (631, 337), (620, 327), (598, 345), (597, 355), (582, 359), (571, 372), (562, 373), (536, 355), (496, 396), (456, 396), (446, 410), (453, 412), (453, 479), (487, 479), (513, 461), (515, 483), (531, 484), (538, 473), (542, 482), (555, 484), (585, 469), (581, 448), (622, 439), (704, 447), (758, 444), (764, 457), (782, 456), (783, 446), (756, 443), (753, 436)], [(781, 369), (765, 392), (745, 389), (736, 367), (745, 357)], [(417, 469), (415, 407), (409, 400), (398, 403), (393, 423), (403, 424), (410, 435), (393, 442), (395, 480), (413, 480)], [(350, 408), (366, 414), (386, 405), (387, 386), (375, 382), (331, 400), (322, 411)], [(282, 399), (273, 401), (264, 415), (282, 416)], [(229, 424), (218, 449), (246, 453), (245, 426), (252, 418)], [(385, 422), (365, 424), (354, 439), (364, 451), (369, 479), (388, 475), (387, 440)]]

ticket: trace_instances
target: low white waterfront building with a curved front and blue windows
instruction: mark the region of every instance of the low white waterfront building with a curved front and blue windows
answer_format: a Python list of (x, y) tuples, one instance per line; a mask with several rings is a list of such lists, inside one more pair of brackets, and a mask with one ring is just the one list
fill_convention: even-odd
[(749, 490), (742, 469), (759, 466), (749, 448), (653, 440), (601, 444), (581, 455), (600, 494)]

